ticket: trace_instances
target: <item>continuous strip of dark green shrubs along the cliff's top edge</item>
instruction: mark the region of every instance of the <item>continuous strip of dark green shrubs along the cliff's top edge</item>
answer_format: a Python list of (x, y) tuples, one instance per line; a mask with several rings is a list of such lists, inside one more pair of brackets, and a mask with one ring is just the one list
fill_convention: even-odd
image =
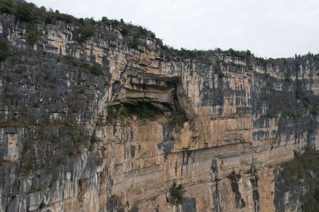
[[(26, 1), (19, 0), (2, 0), (0, 2), (0, 12), (15, 15), (21, 21), (27, 21), (31, 24), (40, 23), (45, 20), (46, 24), (54, 24), (56, 21), (64, 21), (66, 23), (73, 23), (78, 25), (78, 30), (75, 30), (74, 39), (79, 43), (83, 43), (88, 37), (94, 35), (94, 25), (98, 23), (93, 18), (76, 18), (69, 14), (60, 13), (58, 10), (46, 9), (44, 6), (37, 7), (34, 3), (29, 3)], [(184, 59), (196, 59), (200, 61), (205, 61), (206, 63), (211, 63), (212, 55), (220, 56), (232, 56), (241, 58), (244, 60), (254, 61), (256, 65), (266, 66), (283, 66), (287, 63), (297, 63), (302, 58), (307, 58), (316, 64), (319, 64), (319, 54), (308, 53), (307, 55), (301, 56), (296, 55), (295, 58), (279, 58), (279, 59), (265, 59), (262, 57), (255, 57), (253, 53), (249, 50), (238, 51), (234, 49), (221, 50), (216, 48), (215, 50), (188, 50), (188, 49), (175, 49), (173, 47), (163, 45), (162, 40), (156, 38), (155, 34), (142, 26), (135, 26), (131, 23), (124, 22), (123, 19), (108, 19), (107, 17), (102, 17), (100, 21), (104, 24), (109, 24), (113, 28), (118, 29), (122, 35), (124, 35), (124, 40), (128, 44), (137, 49), (140, 43), (140, 39), (153, 39), (161, 48), (161, 54), (166, 58), (166, 60), (171, 60), (175, 57)], [(32, 41), (31, 41), (32, 43)], [(34, 41), (33, 41), (34, 43)], [(220, 77), (223, 77), (220, 74)], [(288, 79), (289, 80), (289, 79)]]

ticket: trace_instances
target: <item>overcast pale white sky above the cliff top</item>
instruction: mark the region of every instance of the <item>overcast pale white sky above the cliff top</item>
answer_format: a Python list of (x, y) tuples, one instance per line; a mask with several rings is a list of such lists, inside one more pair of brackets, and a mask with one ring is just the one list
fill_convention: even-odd
[(272, 58), (319, 53), (319, 0), (29, 1), (76, 17), (123, 18), (178, 49), (249, 49)]

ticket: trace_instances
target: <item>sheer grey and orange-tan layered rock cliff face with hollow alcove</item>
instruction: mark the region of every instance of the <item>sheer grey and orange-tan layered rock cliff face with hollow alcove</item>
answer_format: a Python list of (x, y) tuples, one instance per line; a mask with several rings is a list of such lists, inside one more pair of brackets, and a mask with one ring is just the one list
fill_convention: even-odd
[[(307, 186), (281, 190), (278, 173), (319, 145), (314, 57), (168, 59), (152, 37), (132, 48), (103, 22), (82, 44), (76, 24), (35, 27), (30, 45), (27, 23), (0, 15), (0, 211), (301, 207)], [(145, 106), (155, 118), (120, 115)]]

